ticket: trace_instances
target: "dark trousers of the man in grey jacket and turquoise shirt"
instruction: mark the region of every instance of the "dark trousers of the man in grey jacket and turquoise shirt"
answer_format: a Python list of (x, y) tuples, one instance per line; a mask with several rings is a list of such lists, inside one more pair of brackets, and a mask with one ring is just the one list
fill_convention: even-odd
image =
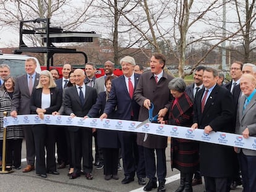
[(256, 191), (256, 156), (245, 156), (241, 151), (238, 159), (242, 172), (242, 186), (244, 192)]

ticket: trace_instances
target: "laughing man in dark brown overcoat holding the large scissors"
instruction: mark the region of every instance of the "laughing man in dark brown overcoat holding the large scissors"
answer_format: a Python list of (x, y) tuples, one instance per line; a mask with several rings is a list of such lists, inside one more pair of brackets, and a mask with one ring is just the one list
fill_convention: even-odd
[[(165, 61), (163, 54), (154, 53), (150, 59), (151, 71), (142, 73), (140, 77), (134, 93), (134, 99), (140, 105), (139, 121), (148, 119), (151, 102), (155, 106), (153, 116), (158, 114), (160, 117), (168, 118), (166, 115), (173, 99), (168, 83), (173, 77), (164, 72)], [(148, 134), (147, 140), (144, 141), (144, 138), (145, 133), (137, 134), (137, 144), (144, 147), (146, 173), (150, 179), (143, 190), (151, 191), (157, 188), (155, 177), (157, 167), (158, 191), (165, 191), (167, 136)], [(157, 162), (155, 162), (155, 151)]]

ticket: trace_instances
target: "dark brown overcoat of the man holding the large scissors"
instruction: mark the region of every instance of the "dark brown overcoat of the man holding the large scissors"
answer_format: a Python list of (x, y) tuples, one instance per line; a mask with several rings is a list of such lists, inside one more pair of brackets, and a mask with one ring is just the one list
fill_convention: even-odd
[[(169, 109), (171, 100), (173, 96), (168, 88), (168, 83), (173, 77), (163, 72), (163, 77), (158, 81), (156, 85), (155, 77), (151, 72), (142, 73), (137, 88), (134, 93), (134, 99), (140, 105), (139, 121), (148, 119), (148, 109), (143, 107), (143, 102), (145, 99), (150, 99), (153, 102), (155, 109), (153, 111), (153, 116), (158, 114), (160, 109), (166, 107)], [(168, 114), (166, 114), (166, 119)], [(137, 134), (137, 143), (140, 146), (146, 148), (166, 148), (167, 147), (167, 136), (158, 136), (148, 134), (147, 140), (144, 142), (145, 133)]]

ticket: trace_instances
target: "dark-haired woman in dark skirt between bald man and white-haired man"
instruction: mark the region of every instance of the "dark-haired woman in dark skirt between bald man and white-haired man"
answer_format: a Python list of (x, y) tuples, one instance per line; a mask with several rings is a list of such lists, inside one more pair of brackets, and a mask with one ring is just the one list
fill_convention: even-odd
[[(85, 117), (100, 117), (100, 115), (103, 114), (105, 104), (108, 100), (109, 92), (111, 90), (111, 81), (114, 78), (116, 77), (111, 75), (106, 77), (106, 91), (98, 94), (96, 103)], [(114, 118), (114, 114), (109, 115), (109, 118)], [(98, 146), (103, 149), (105, 180), (110, 180), (111, 177), (117, 180), (119, 179), (117, 176), (117, 167), (120, 148), (117, 131), (98, 129), (97, 134)]]

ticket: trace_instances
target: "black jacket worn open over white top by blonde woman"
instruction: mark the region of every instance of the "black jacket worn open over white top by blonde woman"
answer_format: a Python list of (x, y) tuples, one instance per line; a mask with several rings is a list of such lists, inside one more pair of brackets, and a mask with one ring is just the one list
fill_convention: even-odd
[[(46, 108), (45, 114), (52, 114), (61, 107), (61, 93), (58, 88), (50, 88), (51, 106)], [(30, 99), (31, 114), (36, 114), (36, 108), (41, 108), (42, 88), (33, 90)]]

